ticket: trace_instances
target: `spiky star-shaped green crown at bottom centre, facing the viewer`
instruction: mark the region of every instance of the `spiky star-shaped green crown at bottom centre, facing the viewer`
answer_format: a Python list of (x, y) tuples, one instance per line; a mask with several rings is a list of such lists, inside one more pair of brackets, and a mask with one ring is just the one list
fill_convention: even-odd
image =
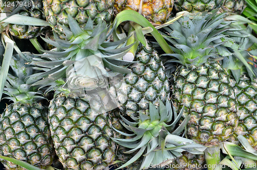
[[(116, 143), (132, 148), (124, 154), (131, 154), (139, 151), (137, 154), (118, 169), (126, 167), (136, 161), (144, 153), (144, 158), (140, 169), (148, 168), (151, 164), (154, 165), (168, 165), (177, 157), (182, 156), (181, 152), (187, 150), (193, 154), (203, 154), (205, 146), (195, 143), (193, 140), (179, 137), (181, 131), (185, 128), (189, 117), (186, 117), (183, 122), (176, 127), (177, 122), (182, 116), (183, 109), (179, 115), (176, 114), (176, 109), (170, 101), (167, 100), (164, 105), (159, 100), (159, 107), (156, 107), (150, 102), (149, 110), (145, 112), (139, 111), (139, 117), (132, 117), (136, 122), (130, 122), (121, 116), (121, 124), (132, 134), (126, 134), (122, 131), (116, 130), (121, 135), (132, 137), (130, 139), (115, 139)], [(173, 120), (174, 117), (174, 121)], [(176, 128), (175, 128), (176, 127)], [(162, 157), (161, 157), (162, 155)]]

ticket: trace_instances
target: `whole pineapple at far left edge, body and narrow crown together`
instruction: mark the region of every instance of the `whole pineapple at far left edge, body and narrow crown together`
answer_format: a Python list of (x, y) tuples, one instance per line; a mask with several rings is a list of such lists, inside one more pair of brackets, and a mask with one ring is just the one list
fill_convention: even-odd
[[(47, 107), (38, 102), (43, 98), (42, 92), (26, 82), (32, 67), (25, 65), (20, 55), (13, 56), (10, 66), (4, 93), (13, 103), (0, 118), (0, 154), (44, 168), (52, 163), (54, 156)], [(12, 162), (3, 159), (1, 162), (7, 169), (25, 170)]]

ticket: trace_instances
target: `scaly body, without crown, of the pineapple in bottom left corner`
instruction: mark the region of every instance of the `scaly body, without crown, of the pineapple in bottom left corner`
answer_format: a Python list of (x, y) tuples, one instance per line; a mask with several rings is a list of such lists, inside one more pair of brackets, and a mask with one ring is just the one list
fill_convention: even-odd
[[(1, 115), (0, 153), (44, 168), (52, 163), (54, 148), (47, 119), (47, 107), (40, 103), (7, 106)], [(1, 159), (7, 169), (26, 168)]]

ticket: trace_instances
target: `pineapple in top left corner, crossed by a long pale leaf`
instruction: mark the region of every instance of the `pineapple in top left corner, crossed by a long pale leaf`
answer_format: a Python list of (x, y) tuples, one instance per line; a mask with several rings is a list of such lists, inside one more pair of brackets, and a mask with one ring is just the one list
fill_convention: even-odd
[[(1, 12), (11, 13), (17, 7), (22, 7), (17, 14), (31, 16), (39, 18), (41, 20), (46, 20), (46, 16), (43, 12), (43, 2), (41, 0), (30, 0), (26, 3), (22, 0), (1, 0)], [(36, 36), (41, 35), (49, 30), (46, 26), (30, 26), (30, 25), (17, 25), (8, 24), (6, 27), (6, 32), (10, 32), (13, 36), (19, 39), (31, 39)]]

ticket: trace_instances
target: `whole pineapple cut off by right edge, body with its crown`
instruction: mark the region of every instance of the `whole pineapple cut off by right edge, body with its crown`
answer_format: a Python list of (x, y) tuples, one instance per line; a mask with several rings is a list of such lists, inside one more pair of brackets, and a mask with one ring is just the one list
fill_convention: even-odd
[[(247, 34), (248, 32), (252, 32), (250, 26), (247, 27), (246, 31), (240, 31), (241, 34)], [(233, 37), (233, 39), (240, 43), (239, 45), (242, 49), (235, 51), (233, 55), (223, 60), (223, 66), (231, 73), (231, 80), (238, 101), (237, 117), (239, 124), (230, 141), (240, 144), (236, 137), (242, 135), (249, 141), (253, 148), (257, 148), (257, 79), (254, 77), (257, 74), (257, 68), (255, 67), (256, 63), (248, 59), (251, 56), (255, 56), (257, 52), (256, 50), (246, 50), (250, 49), (253, 44), (250, 36), (242, 38)], [(244, 58), (250, 64), (249, 67), (251, 69), (248, 69), (238, 60), (238, 57)]]

